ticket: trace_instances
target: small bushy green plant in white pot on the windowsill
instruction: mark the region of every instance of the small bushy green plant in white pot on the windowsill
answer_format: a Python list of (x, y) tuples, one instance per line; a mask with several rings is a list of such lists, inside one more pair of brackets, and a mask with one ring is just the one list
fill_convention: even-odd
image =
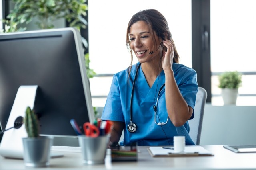
[(236, 104), (238, 88), (242, 86), (242, 74), (237, 71), (228, 71), (218, 76), (224, 105)]

